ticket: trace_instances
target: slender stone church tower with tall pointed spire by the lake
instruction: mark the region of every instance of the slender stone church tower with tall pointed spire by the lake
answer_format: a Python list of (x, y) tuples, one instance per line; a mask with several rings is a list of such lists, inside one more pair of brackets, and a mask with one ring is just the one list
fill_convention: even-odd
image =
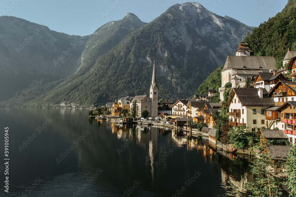
[(155, 76), (155, 61), (153, 64), (153, 73), (152, 73), (152, 82), (150, 85), (150, 100), (151, 100), (151, 116), (158, 116), (158, 87), (156, 84), (156, 76)]

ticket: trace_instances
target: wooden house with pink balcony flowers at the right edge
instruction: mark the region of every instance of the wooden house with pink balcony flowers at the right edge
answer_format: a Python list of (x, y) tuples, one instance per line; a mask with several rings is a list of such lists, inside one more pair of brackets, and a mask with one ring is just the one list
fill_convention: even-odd
[(281, 115), (281, 122), (284, 123), (284, 132), (289, 137), (289, 142), (296, 142), (296, 101), (285, 102), (284, 105), (278, 108)]

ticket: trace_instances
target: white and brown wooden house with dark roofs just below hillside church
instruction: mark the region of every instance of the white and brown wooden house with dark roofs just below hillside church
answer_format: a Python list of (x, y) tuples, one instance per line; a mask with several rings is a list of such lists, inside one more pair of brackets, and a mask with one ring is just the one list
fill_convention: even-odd
[(269, 91), (273, 88), (279, 80), (287, 80), (287, 78), (281, 73), (258, 73), (254, 80), (254, 87), (262, 87)]

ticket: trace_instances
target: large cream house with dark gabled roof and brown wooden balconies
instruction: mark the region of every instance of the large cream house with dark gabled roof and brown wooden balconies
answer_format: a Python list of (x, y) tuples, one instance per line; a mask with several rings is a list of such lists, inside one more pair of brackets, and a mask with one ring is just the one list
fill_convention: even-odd
[(232, 88), (226, 101), (229, 124), (255, 129), (265, 126), (265, 109), (274, 106), (263, 88)]

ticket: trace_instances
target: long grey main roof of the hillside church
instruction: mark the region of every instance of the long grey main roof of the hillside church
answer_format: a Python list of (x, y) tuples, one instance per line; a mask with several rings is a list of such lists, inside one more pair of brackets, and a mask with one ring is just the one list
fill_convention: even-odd
[(273, 56), (228, 56), (222, 71), (227, 69), (277, 70)]

